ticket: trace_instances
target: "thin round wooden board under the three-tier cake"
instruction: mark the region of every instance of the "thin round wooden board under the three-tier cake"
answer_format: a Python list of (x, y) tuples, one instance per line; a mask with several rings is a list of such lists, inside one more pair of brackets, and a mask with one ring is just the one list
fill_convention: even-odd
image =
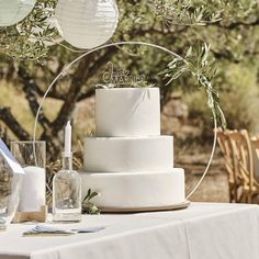
[(104, 213), (131, 213), (131, 212), (159, 212), (159, 211), (176, 211), (189, 207), (190, 201), (184, 201), (179, 204), (168, 206), (146, 206), (146, 207), (100, 207)]

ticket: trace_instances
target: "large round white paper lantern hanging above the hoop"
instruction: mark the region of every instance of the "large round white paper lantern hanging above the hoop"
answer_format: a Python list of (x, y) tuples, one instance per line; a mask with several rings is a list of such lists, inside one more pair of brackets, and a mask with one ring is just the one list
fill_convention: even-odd
[(102, 45), (119, 22), (115, 0), (59, 0), (55, 13), (64, 40), (78, 48)]

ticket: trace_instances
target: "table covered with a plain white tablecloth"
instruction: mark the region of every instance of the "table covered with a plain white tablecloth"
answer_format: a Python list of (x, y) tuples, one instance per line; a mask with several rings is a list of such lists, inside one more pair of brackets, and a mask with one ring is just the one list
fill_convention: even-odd
[(93, 234), (22, 237), (34, 225), (13, 224), (0, 233), (0, 259), (259, 258), (258, 205), (192, 203), (182, 211), (86, 215), (61, 227), (103, 225)]

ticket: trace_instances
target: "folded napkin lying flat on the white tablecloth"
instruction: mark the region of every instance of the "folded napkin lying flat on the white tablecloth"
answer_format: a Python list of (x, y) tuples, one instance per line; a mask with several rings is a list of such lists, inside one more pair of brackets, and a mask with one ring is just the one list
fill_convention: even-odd
[(35, 226), (31, 230), (24, 232), (23, 236), (69, 236), (79, 233), (94, 233), (104, 228), (104, 226), (100, 226), (66, 230), (56, 227)]

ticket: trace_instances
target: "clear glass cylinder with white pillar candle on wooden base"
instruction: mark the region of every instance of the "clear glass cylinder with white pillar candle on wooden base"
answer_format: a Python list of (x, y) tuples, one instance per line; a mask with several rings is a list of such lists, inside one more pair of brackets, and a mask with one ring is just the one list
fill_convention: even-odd
[(20, 204), (13, 222), (45, 222), (46, 199), (46, 143), (12, 142), (11, 150), (25, 174), (22, 180)]

